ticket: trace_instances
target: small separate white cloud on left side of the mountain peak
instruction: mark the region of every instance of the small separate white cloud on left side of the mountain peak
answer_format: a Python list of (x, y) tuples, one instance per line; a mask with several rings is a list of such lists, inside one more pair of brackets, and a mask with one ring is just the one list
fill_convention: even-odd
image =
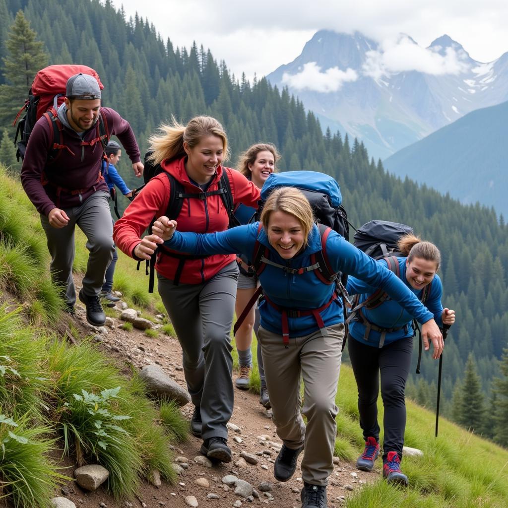
[(308, 62), (298, 74), (282, 74), (282, 83), (296, 90), (314, 90), (317, 92), (336, 92), (342, 84), (348, 81), (356, 81), (358, 73), (353, 69), (341, 71), (338, 67), (330, 67), (321, 72), (321, 67), (316, 62)]

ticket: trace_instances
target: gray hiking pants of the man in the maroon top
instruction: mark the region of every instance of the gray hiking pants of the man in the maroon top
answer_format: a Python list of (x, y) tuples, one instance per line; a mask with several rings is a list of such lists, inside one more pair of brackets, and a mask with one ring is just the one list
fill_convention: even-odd
[(104, 284), (104, 274), (114, 251), (113, 225), (109, 211), (109, 194), (100, 190), (92, 194), (82, 205), (63, 208), (69, 223), (63, 228), (53, 228), (48, 217), (41, 215), (41, 224), (48, 240), (51, 255), (51, 278), (65, 290), (69, 305), (76, 303), (76, 289), (72, 278), (75, 245), (74, 228), (79, 226), (87, 238), (88, 264), (83, 277), (83, 293), (98, 296)]

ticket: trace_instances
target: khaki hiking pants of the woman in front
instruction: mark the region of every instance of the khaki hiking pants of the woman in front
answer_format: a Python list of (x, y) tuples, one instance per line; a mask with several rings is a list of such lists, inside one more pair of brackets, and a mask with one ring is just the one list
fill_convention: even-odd
[[(302, 479), (312, 485), (327, 485), (333, 471), (338, 412), (335, 395), (344, 324), (332, 325), (327, 331), (326, 336), (317, 330), (291, 338), (288, 347), (281, 335), (262, 327), (258, 332), (277, 435), (288, 448), (304, 445)], [(300, 414), (300, 375), (306, 428)]]

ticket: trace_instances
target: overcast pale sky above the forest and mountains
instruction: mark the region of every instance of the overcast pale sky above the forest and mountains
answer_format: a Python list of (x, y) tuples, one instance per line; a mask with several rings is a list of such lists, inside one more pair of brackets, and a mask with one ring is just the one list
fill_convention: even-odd
[[(116, 7), (123, 4), (127, 17), (134, 16), (137, 11), (148, 18), (175, 47), (188, 48), (196, 41), (198, 46), (210, 48), (217, 60), (225, 60), (237, 77), (245, 72), (250, 79), (254, 73), (261, 77), (292, 61), (320, 29), (347, 33), (358, 30), (376, 40), (383, 48), (390, 49), (383, 65), (386, 65), (386, 57), (396, 60), (398, 52), (404, 50), (407, 40), (399, 38), (400, 33), (409, 35), (422, 49), (447, 34), (462, 44), (473, 59), (481, 62), (495, 60), (508, 51), (506, 0), (112, 2)], [(442, 62), (434, 61), (432, 55), (427, 62), (417, 59), (420, 68), (423, 65), (436, 73), (439, 66), (442, 68)], [(453, 66), (454, 62), (448, 61), (447, 65)], [(352, 79), (353, 76), (340, 75), (340, 78)]]

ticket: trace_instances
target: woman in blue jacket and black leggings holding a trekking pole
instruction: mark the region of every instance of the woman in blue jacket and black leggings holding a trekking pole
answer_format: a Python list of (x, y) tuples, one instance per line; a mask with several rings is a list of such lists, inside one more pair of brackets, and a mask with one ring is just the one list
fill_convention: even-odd
[[(455, 311), (441, 305), (442, 284), (436, 274), (440, 264), (438, 248), (422, 242), (414, 235), (405, 235), (399, 242), (403, 257), (391, 258), (396, 273), (406, 287), (425, 303), (438, 325), (455, 323)], [(385, 265), (388, 261), (380, 260)], [(398, 268), (398, 269), (397, 269)], [(348, 352), (358, 385), (360, 426), (365, 439), (365, 450), (358, 458), (357, 467), (370, 471), (379, 453), (379, 425), (377, 423), (377, 397), (379, 374), (381, 395), (385, 408), (383, 441), (383, 477), (389, 483), (407, 485), (407, 477), (400, 470), (406, 407), (404, 388), (412, 354), (412, 316), (394, 300), (375, 305), (372, 295), (376, 286), (356, 277), (347, 280), (347, 292), (361, 295), (358, 303), (364, 304), (354, 312), (350, 322)], [(379, 294), (379, 293), (377, 293)], [(368, 298), (370, 301), (367, 302)], [(370, 308), (372, 307), (372, 308)], [(428, 348), (428, 343), (425, 343)]]

